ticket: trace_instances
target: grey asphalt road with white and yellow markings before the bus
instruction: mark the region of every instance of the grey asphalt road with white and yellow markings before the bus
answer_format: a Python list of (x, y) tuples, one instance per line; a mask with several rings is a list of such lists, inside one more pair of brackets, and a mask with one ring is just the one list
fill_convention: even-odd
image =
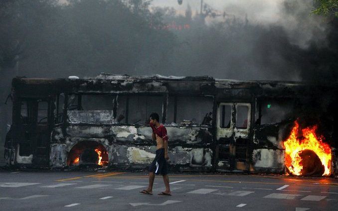
[(170, 174), (153, 195), (146, 172), (0, 172), (2, 211), (335, 211), (338, 180), (287, 176)]

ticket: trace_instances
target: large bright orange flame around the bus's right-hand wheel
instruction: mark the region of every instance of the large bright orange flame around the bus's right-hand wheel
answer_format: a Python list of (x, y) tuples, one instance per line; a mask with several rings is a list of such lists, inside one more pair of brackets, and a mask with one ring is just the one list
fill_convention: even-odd
[(302, 158), (300, 153), (303, 150), (312, 150), (317, 154), (322, 164), (325, 167), (324, 175), (330, 175), (331, 172), (331, 147), (329, 144), (322, 141), (322, 137), (317, 137), (317, 126), (307, 127), (302, 129), (304, 139), (297, 139), (297, 131), (299, 124), (296, 121), (290, 136), (284, 141), (285, 147), (285, 165), (294, 175), (301, 175), (303, 169)]

